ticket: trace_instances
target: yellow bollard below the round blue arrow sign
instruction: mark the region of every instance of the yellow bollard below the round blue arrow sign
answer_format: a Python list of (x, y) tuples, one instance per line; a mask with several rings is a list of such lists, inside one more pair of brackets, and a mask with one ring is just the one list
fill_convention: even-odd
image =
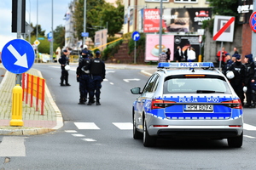
[(22, 93), (23, 90), (19, 84), (13, 88), (13, 105), (12, 105), (12, 120), (10, 126), (22, 127)]

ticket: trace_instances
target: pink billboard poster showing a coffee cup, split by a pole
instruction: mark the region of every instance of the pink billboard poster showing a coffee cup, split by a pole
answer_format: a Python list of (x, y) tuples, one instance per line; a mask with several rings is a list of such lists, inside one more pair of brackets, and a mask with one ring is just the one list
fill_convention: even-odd
[[(173, 35), (162, 35), (162, 50), (167, 50), (170, 48), (171, 56), (170, 59), (173, 60)], [(159, 35), (157, 34), (147, 34), (146, 36), (146, 53), (145, 61), (158, 61), (159, 59)]]

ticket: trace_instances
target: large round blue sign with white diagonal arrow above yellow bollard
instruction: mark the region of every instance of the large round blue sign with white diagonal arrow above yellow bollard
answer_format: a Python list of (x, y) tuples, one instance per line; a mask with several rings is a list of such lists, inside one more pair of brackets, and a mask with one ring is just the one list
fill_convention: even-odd
[(34, 64), (34, 60), (34, 49), (26, 40), (11, 40), (3, 47), (3, 66), (12, 73), (21, 74), (28, 71)]

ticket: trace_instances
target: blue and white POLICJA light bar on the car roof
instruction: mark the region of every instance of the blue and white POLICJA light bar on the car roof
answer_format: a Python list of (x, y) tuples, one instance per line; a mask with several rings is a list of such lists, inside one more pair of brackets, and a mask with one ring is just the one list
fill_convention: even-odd
[(214, 68), (212, 62), (180, 62), (180, 63), (159, 63), (157, 68)]

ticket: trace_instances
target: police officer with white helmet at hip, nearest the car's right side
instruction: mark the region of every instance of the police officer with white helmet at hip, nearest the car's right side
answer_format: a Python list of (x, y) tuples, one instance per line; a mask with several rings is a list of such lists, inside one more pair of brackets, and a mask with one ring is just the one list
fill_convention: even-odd
[(230, 80), (232, 88), (234, 88), (236, 94), (241, 99), (241, 105), (243, 105), (244, 94), (242, 91), (245, 77), (245, 65), (241, 63), (241, 55), (236, 54), (236, 62), (230, 65), (229, 71), (233, 71), (235, 77)]

